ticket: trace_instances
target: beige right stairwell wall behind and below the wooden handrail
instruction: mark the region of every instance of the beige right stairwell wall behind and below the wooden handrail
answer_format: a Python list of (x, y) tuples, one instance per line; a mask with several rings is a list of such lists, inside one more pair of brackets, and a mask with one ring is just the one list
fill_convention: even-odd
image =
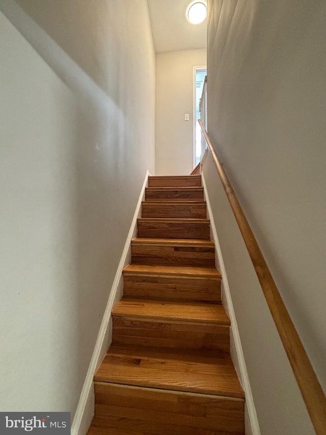
[[(326, 4), (209, 10), (209, 135), (326, 390)], [(204, 172), (261, 432), (314, 433), (209, 160)]]

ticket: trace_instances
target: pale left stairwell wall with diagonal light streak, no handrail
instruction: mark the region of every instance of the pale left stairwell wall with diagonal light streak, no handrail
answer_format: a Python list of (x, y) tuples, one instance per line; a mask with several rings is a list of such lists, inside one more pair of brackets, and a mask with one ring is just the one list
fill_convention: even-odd
[(155, 55), (146, 0), (20, 3), (0, 15), (0, 409), (73, 417), (154, 170)]

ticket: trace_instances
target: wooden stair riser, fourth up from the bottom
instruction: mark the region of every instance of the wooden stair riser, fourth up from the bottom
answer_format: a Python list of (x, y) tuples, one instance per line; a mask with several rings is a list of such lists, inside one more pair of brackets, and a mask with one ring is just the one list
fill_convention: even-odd
[(173, 246), (153, 244), (131, 244), (131, 261), (138, 264), (157, 264), (171, 266), (215, 265), (215, 251), (211, 247)]

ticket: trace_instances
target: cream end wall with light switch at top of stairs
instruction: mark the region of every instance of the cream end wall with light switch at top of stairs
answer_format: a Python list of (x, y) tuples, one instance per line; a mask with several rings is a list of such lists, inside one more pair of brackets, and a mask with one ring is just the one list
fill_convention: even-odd
[(156, 54), (156, 175), (193, 170), (194, 66), (206, 66), (206, 48)]

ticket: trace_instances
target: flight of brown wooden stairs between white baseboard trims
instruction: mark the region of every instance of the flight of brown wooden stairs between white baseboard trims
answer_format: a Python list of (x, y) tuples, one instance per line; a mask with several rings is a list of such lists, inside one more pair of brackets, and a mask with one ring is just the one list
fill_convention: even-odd
[(149, 177), (88, 435), (244, 433), (200, 175)]

